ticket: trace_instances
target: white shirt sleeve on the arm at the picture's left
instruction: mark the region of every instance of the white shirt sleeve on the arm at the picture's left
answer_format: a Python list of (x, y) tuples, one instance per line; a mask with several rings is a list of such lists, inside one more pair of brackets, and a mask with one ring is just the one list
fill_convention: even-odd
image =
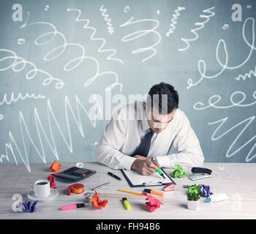
[(97, 162), (113, 169), (131, 170), (134, 157), (121, 153), (127, 130), (127, 116), (124, 109), (118, 110), (111, 118), (95, 149)]

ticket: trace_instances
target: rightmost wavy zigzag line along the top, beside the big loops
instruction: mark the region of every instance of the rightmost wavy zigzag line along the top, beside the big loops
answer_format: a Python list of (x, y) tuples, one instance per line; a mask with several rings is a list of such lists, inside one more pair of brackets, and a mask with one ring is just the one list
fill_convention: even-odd
[(199, 26), (197, 29), (192, 29), (190, 30), (193, 34), (195, 34), (195, 37), (192, 38), (192, 39), (185, 39), (185, 38), (181, 38), (181, 41), (185, 42), (187, 44), (187, 46), (185, 48), (179, 48), (178, 51), (184, 51), (184, 50), (187, 50), (189, 47), (190, 47), (190, 44), (189, 42), (193, 42), (195, 40), (198, 39), (198, 34), (196, 31), (200, 30), (200, 29), (203, 29), (203, 27), (205, 26), (205, 24), (210, 20), (211, 17), (213, 17), (215, 15), (215, 12), (212, 12), (211, 10), (214, 10), (215, 7), (211, 7), (211, 8), (208, 8), (206, 10), (203, 10), (203, 12), (205, 13), (209, 13), (210, 15), (199, 15), (200, 18), (206, 18), (205, 21), (203, 22), (200, 22), (200, 23), (195, 23), (195, 26)]

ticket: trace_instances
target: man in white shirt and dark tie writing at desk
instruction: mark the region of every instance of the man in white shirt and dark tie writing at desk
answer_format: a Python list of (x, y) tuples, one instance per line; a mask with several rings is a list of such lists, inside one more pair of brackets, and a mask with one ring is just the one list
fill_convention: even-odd
[[(171, 146), (176, 154), (168, 154)], [(189, 119), (178, 108), (178, 93), (167, 83), (153, 86), (146, 102), (126, 105), (114, 113), (95, 150), (98, 162), (142, 175), (157, 170), (153, 156), (158, 167), (200, 167), (204, 161)]]

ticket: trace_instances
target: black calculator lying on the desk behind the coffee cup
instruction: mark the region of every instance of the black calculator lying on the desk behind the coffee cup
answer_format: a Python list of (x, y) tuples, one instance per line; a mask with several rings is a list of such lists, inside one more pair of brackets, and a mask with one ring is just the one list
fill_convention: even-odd
[(62, 171), (61, 173), (54, 173), (52, 174), (52, 176), (55, 176), (61, 181), (67, 181), (71, 183), (81, 181), (84, 178), (94, 175), (95, 173), (96, 170), (90, 170), (80, 167), (70, 167), (69, 169)]

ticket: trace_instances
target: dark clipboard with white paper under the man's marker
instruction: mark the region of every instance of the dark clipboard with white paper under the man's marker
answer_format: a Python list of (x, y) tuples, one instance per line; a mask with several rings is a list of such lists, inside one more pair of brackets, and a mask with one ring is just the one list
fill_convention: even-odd
[(173, 182), (173, 184), (176, 184), (172, 178), (170, 178), (169, 175), (161, 168), (162, 172), (165, 173), (165, 179), (162, 178), (162, 176), (159, 175), (159, 173), (153, 173), (149, 176), (143, 176), (140, 175), (135, 170), (123, 170), (121, 169), (121, 173), (124, 175), (124, 178), (126, 178), (127, 182), (129, 183), (129, 186), (131, 187), (143, 187), (143, 186), (161, 186), (170, 184), (170, 182)]

